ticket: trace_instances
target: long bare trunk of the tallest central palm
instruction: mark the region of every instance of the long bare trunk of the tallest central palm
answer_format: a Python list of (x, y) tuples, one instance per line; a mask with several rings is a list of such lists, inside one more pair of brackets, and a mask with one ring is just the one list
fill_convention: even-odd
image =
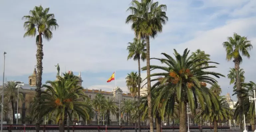
[(154, 132), (153, 127), (153, 115), (152, 115), (152, 100), (151, 100), (151, 80), (150, 80), (150, 52), (149, 52), (149, 36), (146, 37), (146, 48), (147, 48), (147, 89), (148, 89), (148, 110), (149, 110), (149, 125), (150, 125), (150, 132)]

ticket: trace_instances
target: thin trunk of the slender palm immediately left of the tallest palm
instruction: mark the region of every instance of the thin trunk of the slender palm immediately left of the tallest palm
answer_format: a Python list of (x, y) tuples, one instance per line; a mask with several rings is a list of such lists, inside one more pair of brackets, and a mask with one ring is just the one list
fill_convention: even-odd
[(138, 76), (139, 76), (139, 79), (138, 79), (138, 113), (139, 113), (139, 116), (138, 116), (138, 127), (139, 127), (139, 132), (141, 132), (141, 129), (140, 129), (140, 56), (138, 57)]

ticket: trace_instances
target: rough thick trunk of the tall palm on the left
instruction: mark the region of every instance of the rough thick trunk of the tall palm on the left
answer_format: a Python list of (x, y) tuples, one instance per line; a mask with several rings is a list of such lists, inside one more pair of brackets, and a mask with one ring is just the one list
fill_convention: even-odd
[[(42, 74), (43, 74), (43, 44), (42, 44), (42, 33), (39, 34), (39, 43), (37, 44), (37, 53), (36, 53), (36, 58), (37, 58), (37, 74), (36, 74), (36, 86), (37, 88), (35, 89), (36, 91), (36, 99), (40, 99), (41, 97), (41, 86), (42, 86)], [(40, 104), (40, 100), (38, 100), (38, 104)], [(39, 106), (39, 105), (37, 105)], [(40, 110), (40, 108), (37, 108)], [(39, 132), (40, 130), (40, 118), (36, 118), (36, 132)]]

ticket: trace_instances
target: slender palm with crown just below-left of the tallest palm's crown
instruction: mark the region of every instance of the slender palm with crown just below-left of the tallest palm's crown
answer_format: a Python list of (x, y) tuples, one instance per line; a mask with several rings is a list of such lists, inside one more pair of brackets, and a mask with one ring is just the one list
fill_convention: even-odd
[[(138, 60), (138, 77), (140, 77), (140, 59), (142, 61), (145, 60), (146, 58), (146, 43), (145, 43), (145, 40), (140, 40), (138, 38), (134, 38), (133, 39), (133, 43), (128, 43), (129, 46), (127, 46), (127, 50), (128, 50), (128, 56), (127, 56), (127, 60), (128, 59), (132, 59), (134, 61)], [(141, 84), (141, 80), (138, 80), (138, 113), (139, 112), (139, 104), (140, 104), (140, 86)], [(141, 131), (140, 130), (140, 115), (138, 116), (138, 127), (139, 127), (139, 132)], [(137, 129), (136, 129), (137, 130)]]

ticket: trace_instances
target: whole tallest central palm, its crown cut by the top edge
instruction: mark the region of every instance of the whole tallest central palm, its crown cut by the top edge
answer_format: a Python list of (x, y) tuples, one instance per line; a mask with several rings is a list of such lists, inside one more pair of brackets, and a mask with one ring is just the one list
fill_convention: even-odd
[[(131, 12), (131, 15), (127, 16), (125, 22), (132, 23), (132, 30), (134, 30), (135, 35), (138, 38), (146, 39), (146, 49), (147, 49), (147, 76), (150, 76), (150, 44), (149, 38), (155, 38), (157, 33), (162, 32), (163, 24), (168, 21), (166, 16), (166, 5), (159, 5), (158, 2), (153, 2), (153, 0), (133, 0), (131, 2), (131, 7), (127, 9)], [(152, 104), (151, 104), (151, 85), (150, 78), (147, 80), (148, 88), (148, 103), (149, 103), (149, 120), (150, 120), (150, 132), (154, 131), (153, 128), (153, 117), (151, 114)]]

